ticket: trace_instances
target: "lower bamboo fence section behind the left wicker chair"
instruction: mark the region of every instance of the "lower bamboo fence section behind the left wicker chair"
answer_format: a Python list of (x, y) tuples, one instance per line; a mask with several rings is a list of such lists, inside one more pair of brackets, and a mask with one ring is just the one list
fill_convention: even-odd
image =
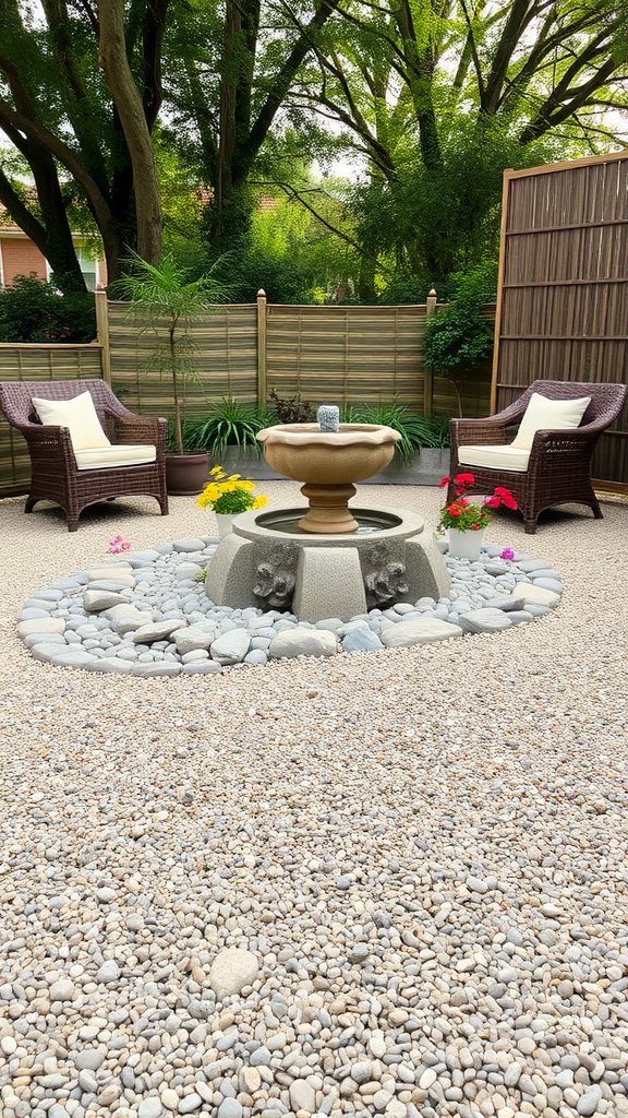
[[(99, 380), (102, 347), (0, 343), (0, 380)], [(0, 411), (0, 496), (23, 493), (30, 479), (25, 439)]]

